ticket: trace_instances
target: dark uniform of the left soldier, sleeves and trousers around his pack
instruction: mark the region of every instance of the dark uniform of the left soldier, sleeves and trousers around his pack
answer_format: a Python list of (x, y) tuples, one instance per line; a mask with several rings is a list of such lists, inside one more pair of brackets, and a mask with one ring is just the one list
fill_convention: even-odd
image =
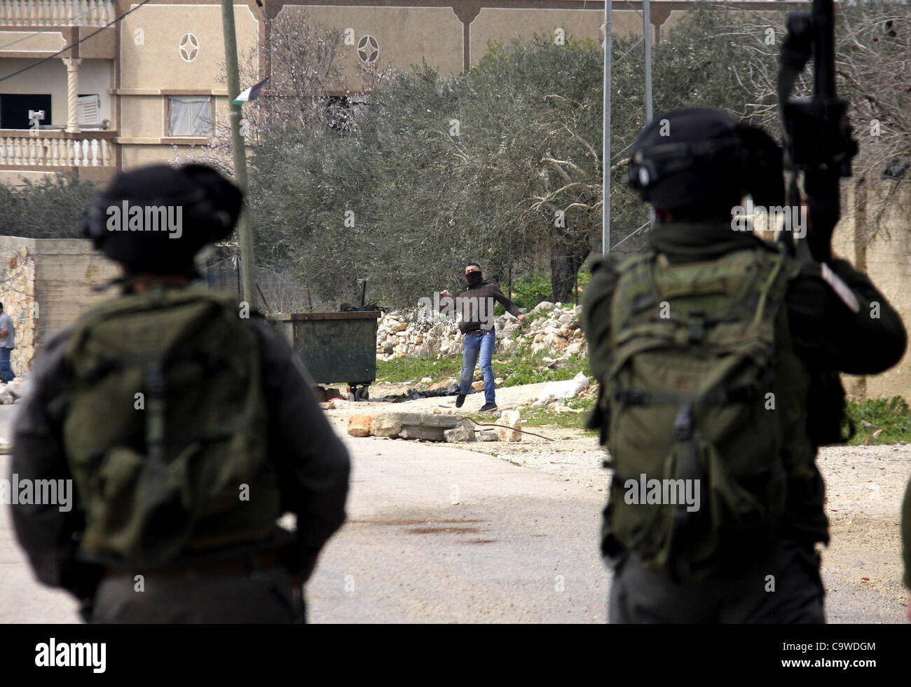
[[(276, 527), (270, 538), (188, 554), (168, 569), (148, 571), (128, 561), (87, 559), (75, 541), (85, 529), (78, 499), (69, 512), (55, 505), (15, 506), (15, 533), (36, 577), (77, 599), (94, 597), (94, 620), (302, 620), (302, 591), (292, 580), (309, 575), (326, 540), (342, 526), (349, 457), (322, 414), (300, 355), (261, 318), (247, 322), (261, 351), (268, 409), (268, 436), (263, 440), (278, 477), (281, 510), (297, 516), (296, 535)], [(20, 479), (72, 477), (63, 428), (70, 335), (71, 330), (56, 334), (33, 365), (32, 389), (15, 422), (12, 471)], [(280, 515), (276, 512), (275, 517)], [(141, 583), (136, 578), (140, 573)]]

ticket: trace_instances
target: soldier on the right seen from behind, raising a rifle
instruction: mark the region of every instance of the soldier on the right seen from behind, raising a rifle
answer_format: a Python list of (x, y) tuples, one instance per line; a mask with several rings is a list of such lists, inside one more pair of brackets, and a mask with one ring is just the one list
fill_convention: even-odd
[(815, 456), (842, 440), (836, 375), (896, 364), (905, 328), (847, 261), (798, 261), (738, 216), (747, 194), (782, 204), (760, 129), (709, 108), (656, 117), (630, 186), (655, 209), (648, 248), (599, 261), (583, 305), (613, 470), (609, 620), (823, 622)]

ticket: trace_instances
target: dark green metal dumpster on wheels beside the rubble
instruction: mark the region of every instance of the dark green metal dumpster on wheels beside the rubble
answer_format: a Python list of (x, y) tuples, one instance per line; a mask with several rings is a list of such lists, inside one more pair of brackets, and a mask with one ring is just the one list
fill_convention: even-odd
[(376, 379), (376, 321), (380, 311), (274, 313), (266, 320), (301, 354), (313, 381), (348, 385), (356, 401)]

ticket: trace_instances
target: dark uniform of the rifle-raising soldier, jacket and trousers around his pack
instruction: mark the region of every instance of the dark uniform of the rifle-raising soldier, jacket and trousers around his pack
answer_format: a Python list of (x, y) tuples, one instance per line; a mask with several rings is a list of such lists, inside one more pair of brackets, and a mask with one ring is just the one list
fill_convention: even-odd
[[(659, 224), (650, 233), (650, 246), (673, 264), (712, 261), (732, 251), (767, 244), (752, 233), (732, 231), (730, 222), (719, 222)], [(618, 264), (614, 259), (599, 261), (583, 303), (591, 374), (599, 380), (610, 366), (610, 310)], [(900, 317), (847, 261), (832, 261), (830, 268), (854, 293), (859, 311), (853, 312), (824, 280), (820, 263), (800, 266), (788, 283), (784, 304), (794, 353), (810, 374), (883, 372), (905, 352), (906, 333)], [(871, 316), (871, 302), (878, 303), (878, 318)], [(814, 544), (829, 540), (824, 483), (814, 463), (816, 446), (801, 429), (789, 437), (785, 450), (806, 456), (789, 475), (784, 524), (773, 538), (729, 547), (720, 568), (705, 582), (672, 583), (644, 569), (635, 553), (621, 552), (609, 561), (615, 568), (609, 608), (612, 622), (823, 620), (824, 590)], [(794, 465), (793, 456), (785, 463)], [(606, 553), (607, 538), (606, 533), (602, 541)]]

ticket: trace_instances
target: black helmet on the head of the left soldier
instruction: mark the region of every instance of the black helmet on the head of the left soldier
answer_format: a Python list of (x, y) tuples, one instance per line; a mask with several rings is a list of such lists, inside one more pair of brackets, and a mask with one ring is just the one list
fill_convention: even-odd
[(82, 233), (131, 272), (193, 275), (193, 257), (230, 236), (242, 204), (241, 190), (215, 169), (153, 165), (119, 174), (98, 194)]

